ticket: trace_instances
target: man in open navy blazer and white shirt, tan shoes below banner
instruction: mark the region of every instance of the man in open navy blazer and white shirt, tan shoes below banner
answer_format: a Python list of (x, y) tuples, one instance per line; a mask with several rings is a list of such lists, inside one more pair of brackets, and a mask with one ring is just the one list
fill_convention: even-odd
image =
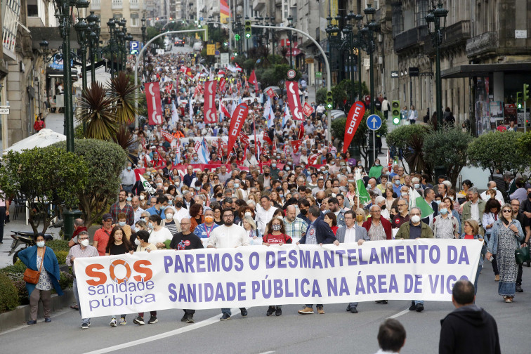
[[(318, 206), (310, 206), (308, 210), (308, 218), (310, 219), (310, 225), (304, 235), (297, 244), (332, 244), (336, 241), (336, 236), (332, 232), (332, 228), (328, 225), (321, 216), (321, 211)], [(305, 308), (299, 310), (301, 315), (309, 315), (313, 313), (313, 305), (306, 305)], [(317, 313), (320, 315), (325, 314), (325, 308), (322, 304), (317, 304)]]

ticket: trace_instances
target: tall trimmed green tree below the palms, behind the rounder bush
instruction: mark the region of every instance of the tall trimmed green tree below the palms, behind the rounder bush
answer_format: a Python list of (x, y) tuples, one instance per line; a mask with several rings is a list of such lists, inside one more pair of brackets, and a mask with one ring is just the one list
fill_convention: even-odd
[[(55, 143), (61, 149), (64, 142)], [(93, 221), (108, 211), (120, 188), (120, 174), (126, 164), (126, 153), (119, 145), (97, 139), (74, 140), (74, 152), (89, 166), (90, 176), (84, 189), (77, 190), (79, 209), (84, 213), (88, 228)]]

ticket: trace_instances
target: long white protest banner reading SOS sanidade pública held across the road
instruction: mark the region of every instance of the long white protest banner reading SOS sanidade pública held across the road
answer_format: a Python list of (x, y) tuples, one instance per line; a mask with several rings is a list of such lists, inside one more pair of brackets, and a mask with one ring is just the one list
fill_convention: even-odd
[(168, 308), (352, 301), (451, 301), (474, 280), (478, 240), (164, 250), (76, 258), (82, 317)]

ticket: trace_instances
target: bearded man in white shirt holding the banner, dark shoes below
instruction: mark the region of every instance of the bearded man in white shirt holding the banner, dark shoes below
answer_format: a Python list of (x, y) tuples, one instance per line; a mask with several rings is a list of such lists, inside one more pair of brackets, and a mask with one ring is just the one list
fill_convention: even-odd
[[(241, 226), (234, 224), (234, 211), (223, 209), (223, 225), (215, 228), (210, 237), (207, 248), (235, 248), (249, 246), (249, 235)], [(219, 320), (230, 320), (230, 308), (222, 308), (223, 315)], [(240, 308), (242, 317), (247, 317), (247, 309)]]

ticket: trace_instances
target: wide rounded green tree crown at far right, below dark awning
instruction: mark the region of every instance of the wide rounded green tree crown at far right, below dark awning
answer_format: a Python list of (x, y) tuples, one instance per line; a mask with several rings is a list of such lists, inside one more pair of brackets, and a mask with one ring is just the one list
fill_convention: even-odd
[(473, 166), (488, 169), (490, 174), (497, 169), (502, 173), (513, 171), (516, 174), (529, 164), (529, 150), (520, 150), (526, 140), (521, 132), (491, 131), (478, 136), (468, 145), (468, 159)]

